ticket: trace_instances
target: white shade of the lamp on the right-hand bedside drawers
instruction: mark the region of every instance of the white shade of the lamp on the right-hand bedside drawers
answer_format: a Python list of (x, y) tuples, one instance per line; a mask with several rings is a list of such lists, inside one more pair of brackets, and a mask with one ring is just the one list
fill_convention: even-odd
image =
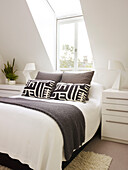
[(125, 70), (124, 65), (117, 60), (108, 61), (108, 70)]

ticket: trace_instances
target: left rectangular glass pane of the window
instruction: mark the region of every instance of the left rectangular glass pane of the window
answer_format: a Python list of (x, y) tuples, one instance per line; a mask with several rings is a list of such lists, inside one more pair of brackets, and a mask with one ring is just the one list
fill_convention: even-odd
[(61, 24), (59, 34), (59, 62), (61, 68), (74, 68), (74, 23)]

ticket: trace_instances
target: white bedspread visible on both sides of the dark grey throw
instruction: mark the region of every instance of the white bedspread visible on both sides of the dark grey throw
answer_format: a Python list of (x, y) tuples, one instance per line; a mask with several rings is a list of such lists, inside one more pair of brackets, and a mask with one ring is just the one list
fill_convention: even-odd
[[(94, 136), (100, 124), (101, 92), (102, 86), (94, 83), (86, 104), (45, 101), (78, 107), (85, 117), (85, 142), (87, 142)], [(61, 170), (62, 160), (65, 160), (63, 136), (52, 118), (39, 111), (3, 103), (0, 103), (0, 152), (28, 164), (34, 170)]]

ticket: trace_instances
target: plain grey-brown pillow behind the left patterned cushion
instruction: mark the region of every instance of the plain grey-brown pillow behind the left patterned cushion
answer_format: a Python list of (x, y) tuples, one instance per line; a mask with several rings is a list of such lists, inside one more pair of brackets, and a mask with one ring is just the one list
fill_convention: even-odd
[(56, 83), (59, 82), (62, 78), (62, 73), (47, 73), (47, 72), (38, 72), (35, 79), (38, 80), (53, 80)]

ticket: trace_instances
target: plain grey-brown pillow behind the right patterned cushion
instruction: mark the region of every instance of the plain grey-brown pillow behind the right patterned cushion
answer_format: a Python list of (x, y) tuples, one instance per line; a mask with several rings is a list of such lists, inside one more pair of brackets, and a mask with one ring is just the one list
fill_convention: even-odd
[(94, 71), (84, 73), (63, 73), (61, 82), (90, 84)]

